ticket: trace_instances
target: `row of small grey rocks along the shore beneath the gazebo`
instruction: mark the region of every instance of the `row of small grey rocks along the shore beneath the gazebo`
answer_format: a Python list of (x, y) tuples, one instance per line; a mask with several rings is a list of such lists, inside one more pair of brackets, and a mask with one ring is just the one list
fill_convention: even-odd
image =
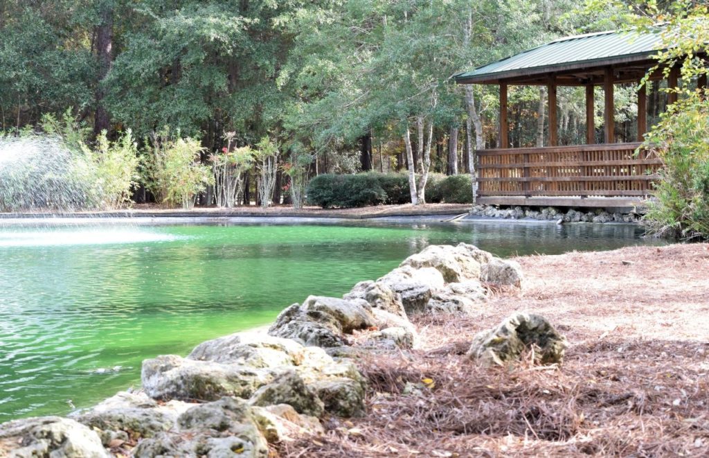
[(510, 207), (498, 208), (495, 206), (476, 205), (469, 212), (472, 216), (485, 216), (486, 218), (504, 219), (529, 219), (540, 221), (559, 221), (563, 223), (637, 223), (640, 215), (637, 213), (608, 212), (600, 208), (594, 211), (579, 211), (571, 208), (567, 211), (559, 208), (531, 208)]

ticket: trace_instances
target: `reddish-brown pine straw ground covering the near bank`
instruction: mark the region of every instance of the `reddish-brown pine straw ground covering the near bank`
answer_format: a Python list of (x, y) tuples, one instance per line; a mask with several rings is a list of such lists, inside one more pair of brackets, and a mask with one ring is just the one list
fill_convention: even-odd
[[(419, 350), (360, 362), (370, 381), (364, 418), (330, 419), (324, 436), (274, 454), (708, 456), (709, 245), (518, 261), (523, 294), (500, 292), (477, 316), (415, 318)], [(519, 310), (566, 335), (561, 367), (467, 359), (475, 333)]]

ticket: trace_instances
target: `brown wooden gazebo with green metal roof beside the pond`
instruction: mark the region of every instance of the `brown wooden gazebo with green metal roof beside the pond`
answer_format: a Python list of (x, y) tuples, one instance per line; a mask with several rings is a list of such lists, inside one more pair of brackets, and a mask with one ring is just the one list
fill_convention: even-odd
[[(589, 33), (554, 40), (498, 62), (457, 74), (459, 84), (500, 87), (498, 148), (476, 152), (479, 203), (524, 206), (632, 207), (652, 191), (661, 162), (637, 143), (616, 143), (613, 86), (637, 83), (654, 65), (659, 33)], [(679, 69), (669, 69), (676, 86)], [(663, 78), (655, 72), (651, 80)], [(700, 85), (705, 81), (698, 82)], [(548, 94), (547, 147), (509, 147), (508, 87), (544, 85)], [(586, 144), (559, 146), (557, 87), (585, 86)], [(603, 86), (604, 142), (595, 142), (594, 87)], [(676, 94), (669, 94), (668, 104)], [(637, 139), (647, 132), (645, 86), (637, 89)]]

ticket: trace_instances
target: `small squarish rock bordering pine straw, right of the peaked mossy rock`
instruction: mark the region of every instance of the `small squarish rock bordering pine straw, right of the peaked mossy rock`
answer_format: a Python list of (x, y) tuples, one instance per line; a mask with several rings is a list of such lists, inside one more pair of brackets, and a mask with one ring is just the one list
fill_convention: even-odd
[(340, 417), (364, 414), (364, 384), (347, 378), (320, 379), (309, 384), (325, 403), (325, 410)]

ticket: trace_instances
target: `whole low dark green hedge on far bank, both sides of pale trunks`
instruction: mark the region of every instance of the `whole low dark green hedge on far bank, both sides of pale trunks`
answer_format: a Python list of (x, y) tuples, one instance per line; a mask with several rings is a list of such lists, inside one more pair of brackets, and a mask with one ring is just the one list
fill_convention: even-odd
[[(471, 181), (467, 174), (446, 177), (430, 174), (426, 201), (430, 203), (472, 203)], [(311, 179), (306, 189), (309, 204), (322, 208), (352, 208), (388, 203), (411, 202), (407, 174), (322, 174)]]

